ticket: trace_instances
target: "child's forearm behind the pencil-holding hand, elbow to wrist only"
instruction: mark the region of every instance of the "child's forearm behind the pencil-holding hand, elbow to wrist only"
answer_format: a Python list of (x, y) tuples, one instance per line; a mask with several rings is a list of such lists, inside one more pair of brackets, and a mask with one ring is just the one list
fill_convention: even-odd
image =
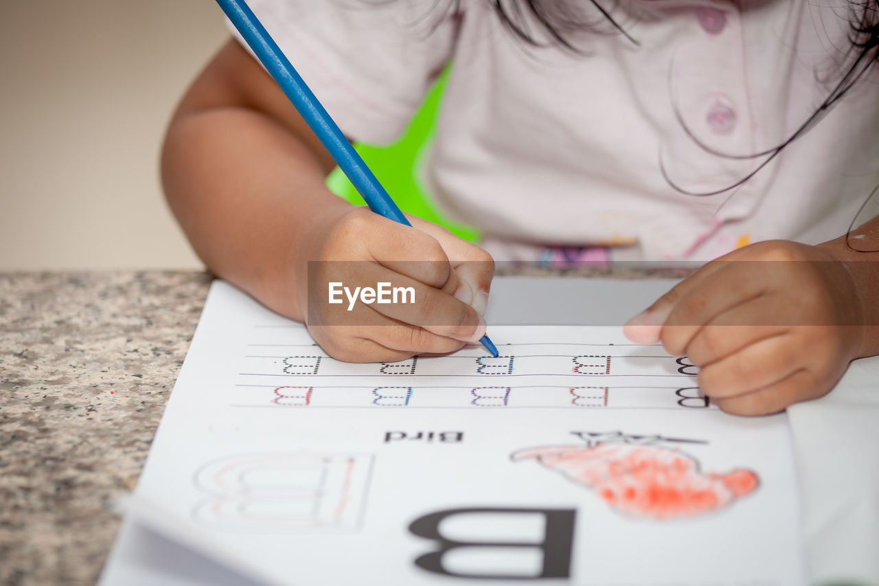
[(214, 274), (302, 319), (296, 253), (321, 215), (348, 204), (327, 190), (321, 165), (300, 141), (243, 108), (186, 114), (168, 133), (163, 184)]

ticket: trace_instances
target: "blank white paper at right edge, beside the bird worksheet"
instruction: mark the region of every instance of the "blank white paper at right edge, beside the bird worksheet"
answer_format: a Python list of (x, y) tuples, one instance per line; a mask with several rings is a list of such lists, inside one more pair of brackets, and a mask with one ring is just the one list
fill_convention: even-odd
[(811, 582), (879, 584), (879, 356), (788, 414)]

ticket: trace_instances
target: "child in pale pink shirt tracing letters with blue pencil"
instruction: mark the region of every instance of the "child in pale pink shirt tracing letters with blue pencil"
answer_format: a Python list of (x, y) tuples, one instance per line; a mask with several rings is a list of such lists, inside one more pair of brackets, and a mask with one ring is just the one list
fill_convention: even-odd
[[(877, 253), (839, 237), (879, 165), (875, 6), (597, 3), (250, 3), (353, 140), (394, 140), (452, 63), (425, 180), (481, 246), (331, 194), (331, 157), (236, 40), (171, 121), (171, 208), (214, 273), (352, 362), (478, 340), (492, 257), (721, 257), (628, 336), (689, 355), (730, 413), (825, 394), (879, 353), (879, 271), (858, 262)], [(879, 249), (879, 223), (859, 237)], [(345, 280), (412, 286), (418, 303), (361, 305), (332, 326), (324, 290), (309, 295), (314, 260), (359, 261), (316, 270), (340, 281), (344, 264)]]

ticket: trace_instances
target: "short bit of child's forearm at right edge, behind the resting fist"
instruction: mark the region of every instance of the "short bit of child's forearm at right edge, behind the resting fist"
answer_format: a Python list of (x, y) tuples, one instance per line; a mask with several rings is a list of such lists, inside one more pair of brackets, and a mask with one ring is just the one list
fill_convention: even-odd
[[(858, 356), (879, 355), (879, 216), (856, 230), (852, 240), (858, 250), (847, 244), (846, 236), (818, 245), (834, 258), (846, 263), (857, 293), (863, 336)], [(877, 251), (877, 252), (861, 252)]]

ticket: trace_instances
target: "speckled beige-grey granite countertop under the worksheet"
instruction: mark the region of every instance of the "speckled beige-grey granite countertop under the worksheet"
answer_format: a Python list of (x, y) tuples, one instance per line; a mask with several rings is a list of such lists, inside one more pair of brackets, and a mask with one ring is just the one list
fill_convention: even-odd
[[(685, 276), (513, 269), (506, 275)], [(0, 584), (93, 584), (207, 297), (197, 272), (0, 274)]]

